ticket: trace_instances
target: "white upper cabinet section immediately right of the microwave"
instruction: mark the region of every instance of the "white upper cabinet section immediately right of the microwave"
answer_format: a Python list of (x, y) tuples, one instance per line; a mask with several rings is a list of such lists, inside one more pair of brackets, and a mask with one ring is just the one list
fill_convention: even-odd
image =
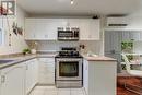
[(80, 22), (81, 40), (99, 40), (99, 20), (84, 19)]

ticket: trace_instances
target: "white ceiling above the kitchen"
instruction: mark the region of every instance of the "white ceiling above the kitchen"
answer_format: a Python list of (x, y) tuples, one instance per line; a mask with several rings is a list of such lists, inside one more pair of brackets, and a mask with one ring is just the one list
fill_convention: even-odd
[(31, 14), (130, 14), (142, 9), (142, 0), (16, 0)]

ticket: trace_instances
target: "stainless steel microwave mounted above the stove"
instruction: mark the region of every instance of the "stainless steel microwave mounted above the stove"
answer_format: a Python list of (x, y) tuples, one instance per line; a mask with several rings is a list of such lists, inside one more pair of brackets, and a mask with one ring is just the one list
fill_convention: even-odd
[(79, 40), (80, 29), (78, 27), (58, 27), (58, 40)]

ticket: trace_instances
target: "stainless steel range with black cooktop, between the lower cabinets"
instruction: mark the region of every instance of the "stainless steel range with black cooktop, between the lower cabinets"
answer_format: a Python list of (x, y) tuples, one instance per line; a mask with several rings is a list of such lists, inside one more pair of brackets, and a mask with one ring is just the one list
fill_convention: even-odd
[(76, 48), (62, 48), (56, 56), (56, 86), (82, 87), (82, 67)]

